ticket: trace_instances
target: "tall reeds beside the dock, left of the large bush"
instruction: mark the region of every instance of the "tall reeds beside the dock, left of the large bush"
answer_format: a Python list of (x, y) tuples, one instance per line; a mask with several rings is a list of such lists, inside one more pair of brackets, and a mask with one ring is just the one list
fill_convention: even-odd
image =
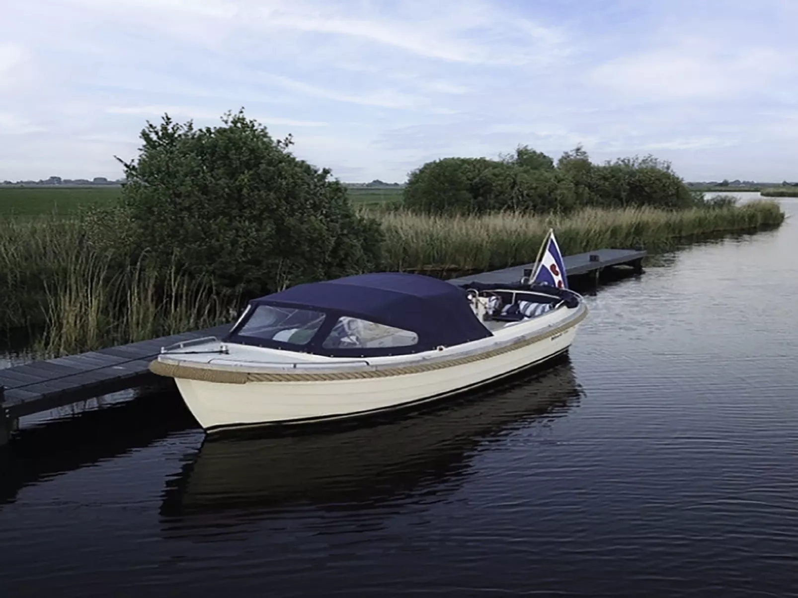
[(0, 326), (43, 329), (39, 356), (221, 324), (237, 304), (177, 264), (156, 271), (97, 246), (79, 219), (0, 220), (0, 287)]

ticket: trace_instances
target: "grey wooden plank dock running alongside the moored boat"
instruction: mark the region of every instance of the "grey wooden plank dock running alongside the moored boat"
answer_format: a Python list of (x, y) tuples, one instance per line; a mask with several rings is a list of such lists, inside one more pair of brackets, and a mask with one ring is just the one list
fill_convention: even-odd
[[(642, 271), (645, 251), (605, 249), (563, 258), (569, 277), (595, 274), (612, 266), (632, 266)], [(519, 281), (531, 265), (515, 266), (450, 280), (452, 284), (468, 281)], [(143, 340), (118, 347), (100, 349), (53, 360), (0, 369), (0, 446), (6, 444), (18, 420), (95, 396), (136, 388), (156, 380), (148, 366), (162, 347), (221, 336), (230, 325), (184, 332), (174, 336)]]

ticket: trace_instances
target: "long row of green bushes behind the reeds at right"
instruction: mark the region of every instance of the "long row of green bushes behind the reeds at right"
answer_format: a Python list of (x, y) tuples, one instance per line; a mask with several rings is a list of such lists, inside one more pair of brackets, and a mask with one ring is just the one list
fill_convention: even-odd
[(591, 163), (581, 146), (557, 161), (527, 146), (498, 160), (444, 158), (410, 173), (405, 206), (422, 214), (498, 210), (569, 213), (583, 207), (701, 207), (670, 163), (653, 156)]

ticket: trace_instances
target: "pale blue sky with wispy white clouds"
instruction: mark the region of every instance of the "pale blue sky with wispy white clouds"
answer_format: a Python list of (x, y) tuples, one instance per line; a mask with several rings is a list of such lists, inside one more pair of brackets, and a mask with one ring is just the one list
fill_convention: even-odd
[(519, 144), (798, 180), (798, 0), (10, 0), (0, 180), (122, 176), (244, 108), (344, 182)]

